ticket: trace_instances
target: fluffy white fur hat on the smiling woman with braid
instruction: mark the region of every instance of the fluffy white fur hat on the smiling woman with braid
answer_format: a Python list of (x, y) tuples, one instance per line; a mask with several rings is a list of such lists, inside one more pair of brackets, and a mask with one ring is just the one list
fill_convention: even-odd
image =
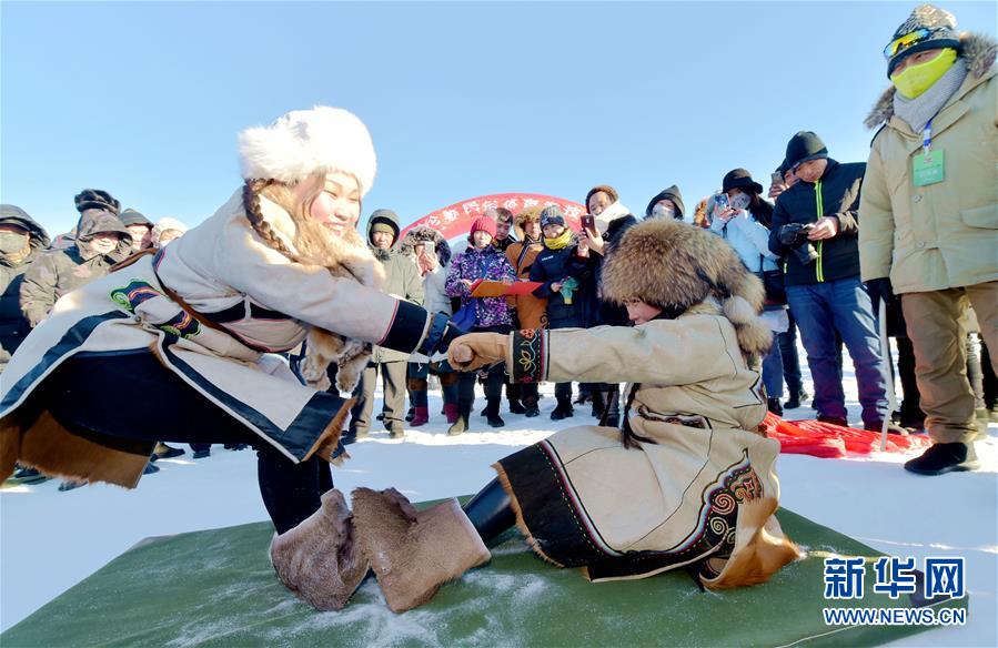
[(361, 195), (371, 190), (377, 160), (371, 134), (355, 114), (316, 105), (293, 110), (269, 126), (239, 134), (242, 175), (246, 180), (300, 182), (321, 169), (357, 179)]

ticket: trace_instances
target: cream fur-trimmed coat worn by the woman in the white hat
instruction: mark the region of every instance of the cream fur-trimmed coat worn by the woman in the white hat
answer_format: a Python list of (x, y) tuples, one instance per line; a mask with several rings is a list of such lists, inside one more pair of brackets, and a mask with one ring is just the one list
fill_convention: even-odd
[[(323, 265), (292, 261), (269, 246), (236, 191), (155, 260), (142, 257), (60, 300), (0, 375), (0, 477), (17, 460), (74, 479), (138, 483), (151, 446), (125, 452), (78, 436), (31, 398), (62, 362), (87, 352), (154, 354), (164, 371), (293, 462), (316, 452), (329, 435), (335, 443), (346, 409), (330, 412), (327, 399), (266, 352), (291, 350), (322, 328), (409, 354), (426, 336), (429, 316), (374, 287), (381, 265), (353, 230), (343, 240), (316, 241), (266, 198), (260, 198), (260, 212), (285, 247)], [(167, 288), (213, 326), (191, 316)]]

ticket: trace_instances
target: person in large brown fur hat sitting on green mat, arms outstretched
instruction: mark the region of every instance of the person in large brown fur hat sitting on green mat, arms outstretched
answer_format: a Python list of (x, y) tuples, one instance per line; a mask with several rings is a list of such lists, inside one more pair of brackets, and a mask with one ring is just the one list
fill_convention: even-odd
[[(624, 235), (603, 294), (627, 307), (633, 327), (475, 333), (452, 344), (451, 363), (464, 369), (505, 361), (518, 381), (629, 381), (624, 422), (564, 429), (501, 459), (498, 478), (464, 507), (470, 527), (420, 535), (422, 514), (412, 513), (402, 526), (416, 531), (405, 537), (366, 533), (390, 605), (419, 605), (440, 585), (424, 575), (389, 583), (394, 560), (468, 551), (471, 528), (488, 540), (515, 524), (545, 560), (594, 581), (692, 567), (704, 586), (729, 588), (798, 557), (773, 515), (779, 444), (757, 432), (766, 403), (747, 362), (772, 341), (762, 282), (722, 239), (654, 220)], [(359, 522), (411, 510), (393, 490), (355, 493), (354, 507)]]

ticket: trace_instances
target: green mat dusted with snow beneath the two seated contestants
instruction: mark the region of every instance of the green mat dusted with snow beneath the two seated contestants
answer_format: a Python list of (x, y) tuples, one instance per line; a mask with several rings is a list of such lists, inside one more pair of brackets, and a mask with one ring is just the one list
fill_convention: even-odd
[[(291, 595), (268, 561), (273, 527), (236, 527), (148, 539), (0, 635), (21, 646), (869, 646), (929, 629), (826, 626), (821, 608), (913, 607), (873, 591), (825, 601), (827, 553), (880, 554), (788, 510), (787, 535), (810, 557), (769, 583), (703, 593), (685, 574), (592, 584), (532, 554), (515, 531), (493, 560), (395, 615), (373, 575), (341, 611), (317, 612)], [(918, 565), (921, 567), (921, 565)], [(967, 599), (935, 604), (966, 609)]]

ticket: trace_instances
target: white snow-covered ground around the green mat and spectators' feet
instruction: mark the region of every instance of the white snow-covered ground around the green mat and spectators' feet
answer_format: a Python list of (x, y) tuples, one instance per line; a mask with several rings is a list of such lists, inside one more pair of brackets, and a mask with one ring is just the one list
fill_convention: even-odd
[[(555, 429), (592, 423), (588, 406), (576, 408), (573, 418), (552, 422), (552, 386), (542, 392), (540, 418), (504, 413), (506, 427), (493, 431), (475, 412), (473, 431), (456, 437), (446, 436), (440, 394), (431, 392), (430, 425), (397, 441), (374, 428), (371, 438), (350, 446), (352, 458), (333, 470), (335, 484), (347, 493), (356, 486), (394, 486), (413, 500), (474, 493), (494, 476), (490, 465), (496, 459)], [(846, 393), (855, 424), (859, 408), (851, 373)], [(480, 394), (476, 409), (482, 404)], [(814, 412), (805, 407), (786, 417), (810, 418)], [(887, 554), (913, 556), (919, 566), (926, 556), (967, 559), (968, 624), (924, 632), (905, 645), (998, 646), (998, 426), (990, 426), (977, 452), (980, 472), (941, 477), (904, 470), (900, 464), (909, 457), (899, 455), (779, 459), (783, 506)], [(0, 629), (144, 537), (266, 519), (255, 453), (213, 446), (211, 457), (195, 462), (190, 455), (188, 449), (185, 456), (160, 460), (161, 472), (134, 490), (93, 485), (59, 493), (52, 480), (0, 492)]]

